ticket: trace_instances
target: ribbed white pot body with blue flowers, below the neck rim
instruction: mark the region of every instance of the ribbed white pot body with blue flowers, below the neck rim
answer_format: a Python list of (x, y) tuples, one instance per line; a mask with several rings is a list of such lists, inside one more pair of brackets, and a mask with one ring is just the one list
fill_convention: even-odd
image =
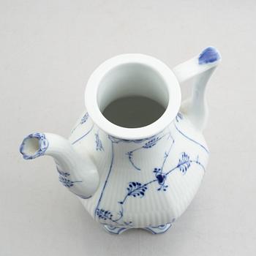
[(99, 129), (85, 112), (69, 141), (97, 165), (99, 188), (80, 200), (102, 225), (172, 223), (195, 196), (208, 162), (203, 135), (183, 113), (151, 138), (122, 140)]

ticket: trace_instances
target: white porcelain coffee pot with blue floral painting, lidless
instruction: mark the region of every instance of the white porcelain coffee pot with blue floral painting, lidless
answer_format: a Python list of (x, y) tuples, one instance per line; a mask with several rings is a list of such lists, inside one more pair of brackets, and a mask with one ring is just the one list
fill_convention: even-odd
[[(219, 61), (212, 47), (173, 69), (142, 54), (108, 59), (89, 78), (86, 110), (69, 139), (34, 132), (24, 138), (20, 153), (24, 159), (53, 157), (61, 184), (109, 233), (129, 228), (163, 233), (187, 209), (206, 170), (205, 91)], [(192, 97), (181, 103), (180, 85), (191, 78)], [(132, 128), (103, 114), (111, 102), (132, 97), (157, 102), (164, 111), (141, 126), (128, 115), (143, 109), (140, 101), (120, 107), (118, 118), (136, 123)], [(148, 108), (136, 120), (150, 119), (153, 112)]]

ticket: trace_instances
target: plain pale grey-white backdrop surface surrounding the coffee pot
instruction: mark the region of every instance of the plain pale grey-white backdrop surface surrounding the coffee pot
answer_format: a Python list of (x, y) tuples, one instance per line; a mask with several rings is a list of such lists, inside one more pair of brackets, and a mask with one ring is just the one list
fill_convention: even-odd
[[(0, 255), (255, 255), (255, 14), (253, 0), (0, 0)], [(30, 132), (69, 135), (105, 59), (146, 53), (174, 67), (208, 45), (222, 53), (207, 91), (211, 159), (164, 235), (110, 236), (59, 184), (52, 159), (19, 154)]]

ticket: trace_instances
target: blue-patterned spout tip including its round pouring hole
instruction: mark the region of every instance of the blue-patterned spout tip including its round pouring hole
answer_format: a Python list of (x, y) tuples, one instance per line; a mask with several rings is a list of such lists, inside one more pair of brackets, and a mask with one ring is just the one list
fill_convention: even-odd
[(34, 132), (24, 138), (20, 144), (20, 153), (23, 159), (34, 159), (45, 154), (49, 146), (45, 135), (40, 132)]

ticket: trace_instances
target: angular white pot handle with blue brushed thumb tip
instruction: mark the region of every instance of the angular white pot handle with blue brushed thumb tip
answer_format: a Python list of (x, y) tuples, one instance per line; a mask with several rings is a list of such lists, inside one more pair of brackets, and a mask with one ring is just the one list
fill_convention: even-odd
[(199, 56), (189, 59), (173, 69), (179, 83), (194, 78), (192, 97), (182, 102), (181, 111), (187, 113), (189, 120), (200, 131), (204, 129), (208, 119), (206, 84), (220, 61), (221, 57), (217, 49), (208, 47)]

